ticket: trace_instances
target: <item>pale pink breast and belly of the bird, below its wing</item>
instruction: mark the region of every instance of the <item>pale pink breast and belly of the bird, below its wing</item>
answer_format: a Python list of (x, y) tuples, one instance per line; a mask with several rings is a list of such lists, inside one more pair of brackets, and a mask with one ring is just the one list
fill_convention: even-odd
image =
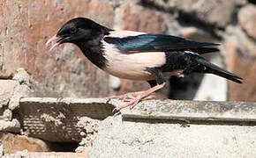
[(163, 52), (125, 53), (114, 45), (102, 41), (107, 66), (103, 70), (119, 78), (131, 80), (150, 80), (154, 75), (145, 71), (146, 68), (161, 67), (165, 63)]

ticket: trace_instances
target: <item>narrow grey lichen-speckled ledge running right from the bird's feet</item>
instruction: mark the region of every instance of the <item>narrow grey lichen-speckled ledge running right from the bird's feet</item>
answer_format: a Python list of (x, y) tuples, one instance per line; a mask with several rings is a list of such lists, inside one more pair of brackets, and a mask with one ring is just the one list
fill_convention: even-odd
[(255, 102), (216, 102), (151, 100), (123, 109), (123, 118), (253, 121), (256, 122)]

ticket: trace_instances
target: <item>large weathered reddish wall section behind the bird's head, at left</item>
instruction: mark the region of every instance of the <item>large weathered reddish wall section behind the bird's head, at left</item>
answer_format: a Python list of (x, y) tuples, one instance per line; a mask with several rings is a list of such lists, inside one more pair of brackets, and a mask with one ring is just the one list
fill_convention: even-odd
[[(0, 76), (26, 68), (39, 96), (101, 97), (109, 93), (108, 75), (97, 70), (72, 45), (49, 53), (45, 42), (70, 18), (94, 18), (112, 27), (112, 6), (99, 1), (1, 1)], [(105, 80), (101, 80), (105, 78)]]

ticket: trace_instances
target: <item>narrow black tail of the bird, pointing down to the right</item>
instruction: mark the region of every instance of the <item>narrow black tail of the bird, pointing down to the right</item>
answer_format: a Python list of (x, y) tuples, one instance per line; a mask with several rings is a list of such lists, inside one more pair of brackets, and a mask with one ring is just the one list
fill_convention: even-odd
[(203, 57), (197, 54), (190, 54), (190, 56), (192, 57), (192, 61), (193, 61), (192, 65), (189, 67), (190, 71), (215, 74), (215, 75), (222, 76), (233, 82), (242, 83), (241, 80), (243, 80), (243, 78), (241, 78), (240, 76), (230, 73), (229, 71), (208, 62)]

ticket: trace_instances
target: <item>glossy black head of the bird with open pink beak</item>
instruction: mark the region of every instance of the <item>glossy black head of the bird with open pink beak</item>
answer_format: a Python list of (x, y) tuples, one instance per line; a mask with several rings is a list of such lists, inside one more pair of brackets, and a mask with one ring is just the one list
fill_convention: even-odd
[(79, 45), (81, 42), (85, 43), (90, 39), (94, 39), (95, 36), (108, 34), (109, 31), (111, 31), (109, 28), (99, 25), (88, 18), (72, 18), (59, 29), (56, 35), (48, 40), (47, 44), (57, 39), (56, 44), (50, 50), (68, 42)]

